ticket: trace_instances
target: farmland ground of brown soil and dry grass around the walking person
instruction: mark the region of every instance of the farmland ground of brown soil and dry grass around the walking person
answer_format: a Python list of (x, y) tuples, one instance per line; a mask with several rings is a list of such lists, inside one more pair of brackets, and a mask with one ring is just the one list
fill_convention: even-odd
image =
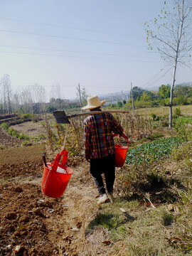
[[(165, 114), (158, 111), (144, 114)], [(181, 114), (188, 117), (189, 107), (181, 107)], [(83, 156), (82, 127), (78, 127), (82, 119), (68, 127), (65, 145), (73, 149), (68, 166), (74, 172), (61, 198), (49, 198), (41, 191), (41, 154), (53, 161), (67, 128), (55, 126), (52, 119), (44, 125), (45, 120), (11, 126), (31, 138), (26, 142), (0, 127), (1, 255), (191, 255), (191, 124), (169, 131), (161, 127), (161, 120), (150, 124), (145, 118), (121, 121), (117, 116), (129, 132), (129, 152), (137, 152), (132, 159), (141, 161), (116, 169), (115, 201), (101, 206)], [(181, 138), (178, 144), (169, 139), (176, 135)], [(173, 148), (161, 149), (160, 142)], [(155, 154), (156, 144), (161, 157)]]

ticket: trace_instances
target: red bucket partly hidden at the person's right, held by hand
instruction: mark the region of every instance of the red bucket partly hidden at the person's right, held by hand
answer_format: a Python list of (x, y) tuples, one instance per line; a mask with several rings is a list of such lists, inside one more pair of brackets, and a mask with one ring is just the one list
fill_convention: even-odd
[(115, 147), (115, 167), (122, 167), (124, 166), (124, 162), (126, 160), (127, 156), (127, 150), (129, 148), (129, 140), (127, 136), (123, 136), (125, 139), (127, 139), (127, 146), (121, 146), (121, 145), (114, 145)]

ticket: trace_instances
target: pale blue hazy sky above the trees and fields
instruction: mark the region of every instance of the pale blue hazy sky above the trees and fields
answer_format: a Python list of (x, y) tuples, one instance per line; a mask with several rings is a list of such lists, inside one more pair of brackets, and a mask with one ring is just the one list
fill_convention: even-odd
[[(169, 1), (167, 1), (169, 2)], [(73, 99), (171, 84), (172, 69), (148, 50), (144, 22), (158, 16), (161, 0), (0, 0), (0, 79), (12, 90), (37, 83), (46, 101), (60, 85)], [(176, 83), (191, 82), (179, 67)]]

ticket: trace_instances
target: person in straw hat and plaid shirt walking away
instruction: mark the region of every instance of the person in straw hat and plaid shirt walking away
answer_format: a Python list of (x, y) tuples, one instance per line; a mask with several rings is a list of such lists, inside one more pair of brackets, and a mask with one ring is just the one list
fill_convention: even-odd
[[(100, 107), (107, 100), (102, 100), (97, 96), (87, 98), (87, 106), (82, 107), (82, 110), (102, 111)], [(100, 193), (99, 205), (107, 201), (114, 201), (112, 196), (113, 184), (115, 178), (115, 152), (114, 140), (112, 132), (122, 135), (123, 128), (117, 122), (112, 114), (102, 112), (99, 114), (90, 114), (85, 118), (84, 122), (84, 145), (85, 159), (90, 162), (90, 174)], [(124, 135), (125, 136), (125, 135)], [(105, 174), (105, 183), (107, 193), (102, 180), (102, 174)]]

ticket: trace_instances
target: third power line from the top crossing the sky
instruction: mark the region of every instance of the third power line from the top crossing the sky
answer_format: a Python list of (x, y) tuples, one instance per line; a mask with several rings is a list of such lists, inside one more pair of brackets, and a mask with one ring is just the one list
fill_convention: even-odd
[(112, 53), (93, 53), (93, 52), (85, 52), (85, 51), (77, 51), (77, 50), (63, 50), (63, 49), (53, 49), (53, 48), (35, 48), (35, 47), (26, 47), (26, 46), (5, 46), (0, 45), (0, 47), (7, 48), (21, 48), (21, 49), (31, 49), (31, 50), (50, 50), (50, 51), (60, 51), (65, 53), (85, 53), (85, 54), (95, 54), (95, 55), (113, 55), (113, 56), (121, 56), (121, 57), (129, 57), (129, 58), (151, 58), (157, 59), (156, 57), (145, 57), (145, 56), (136, 56), (136, 55), (123, 55), (123, 54), (112, 54)]

